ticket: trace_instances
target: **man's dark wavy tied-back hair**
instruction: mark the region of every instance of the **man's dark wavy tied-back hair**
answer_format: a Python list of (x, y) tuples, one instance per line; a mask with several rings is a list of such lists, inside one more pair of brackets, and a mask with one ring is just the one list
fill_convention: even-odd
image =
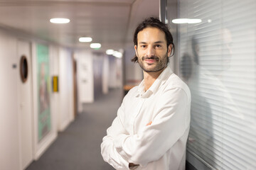
[[(159, 30), (162, 30), (166, 35), (167, 48), (169, 47), (169, 45), (172, 45), (174, 50), (174, 40), (169, 31), (168, 26), (165, 23), (159, 21), (159, 18), (154, 17), (146, 18), (144, 21), (142, 21), (142, 23), (139, 23), (139, 26), (137, 26), (134, 32), (134, 45), (138, 45), (138, 33), (144, 30), (145, 28), (159, 28)], [(174, 52), (172, 55), (174, 55)], [(131, 61), (138, 62), (138, 57), (136, 54), (134, 55), (134, 57), (132, 57)], [(169, 58), (167, 62), (169, 62)]]

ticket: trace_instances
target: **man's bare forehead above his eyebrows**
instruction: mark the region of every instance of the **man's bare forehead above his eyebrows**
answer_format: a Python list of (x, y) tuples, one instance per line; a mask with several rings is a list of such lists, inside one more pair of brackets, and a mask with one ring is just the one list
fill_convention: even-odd
[(144, 28), (138, 33), (138, 42), (163, 41), (166, 42), (164, 31), (159, 28)]

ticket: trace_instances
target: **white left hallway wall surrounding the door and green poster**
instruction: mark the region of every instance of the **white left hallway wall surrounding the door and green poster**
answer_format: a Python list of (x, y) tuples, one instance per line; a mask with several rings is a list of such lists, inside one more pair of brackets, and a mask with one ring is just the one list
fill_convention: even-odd
[[(64, 130), (74, 119), (73, 106), (73, 62), (72, 52), (63, 47), (49, 45), (41, 40), (27, 38), (18, 32), (0, 28), (0, 169), (22, 169), (20, 130), (21, 116), (19, 91), (21, 84), (18, 64), (18, 40), (25, 40), (32, 44), (32, 69), (28, 76), (32, 78), (33, 101), (28, 103), (33, 108), (33, 120), (31, 122), (33, 132), (33, 159), (38, 159), (46, 151), (57, 137), (57, 131)], [(51, 108), (51, 132), (38, 143), (38, 109), (37, 109), (37, 77), (36, 77), (36, 44), (43, 43), (49, 47), (50, 79), (53, 75), (59, 76), (59, 92), (50, 94)], [(60, 107), (61, 106), (61, 107)]]

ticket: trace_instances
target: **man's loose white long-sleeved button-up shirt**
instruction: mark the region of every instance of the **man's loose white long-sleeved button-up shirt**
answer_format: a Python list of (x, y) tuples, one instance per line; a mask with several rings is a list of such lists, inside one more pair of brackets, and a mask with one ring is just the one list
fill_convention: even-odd
[[(145, 92), (144, 80), (124, 97), (101, 145), (115, 169), (183, 170), (190, 124), (188, 86), (166, 67)], [(151, 122), (151, 125), (147, 125)]]

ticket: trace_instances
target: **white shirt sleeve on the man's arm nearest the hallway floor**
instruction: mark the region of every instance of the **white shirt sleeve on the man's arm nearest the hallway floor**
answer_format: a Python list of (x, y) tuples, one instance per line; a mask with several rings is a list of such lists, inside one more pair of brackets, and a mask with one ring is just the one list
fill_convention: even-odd
[(128, 134), (122, 125), (120, 116), (123, 112), (123, 104), (117, 111), (117, 117), (113, 120), (107, 135), (103, 137), (101, 144), (101, 154), (105, 162), (109, 163), (114, 169), (129, 169), (129, 163), (117, 152), (114, 147), (114, 138), (120, 134)]

